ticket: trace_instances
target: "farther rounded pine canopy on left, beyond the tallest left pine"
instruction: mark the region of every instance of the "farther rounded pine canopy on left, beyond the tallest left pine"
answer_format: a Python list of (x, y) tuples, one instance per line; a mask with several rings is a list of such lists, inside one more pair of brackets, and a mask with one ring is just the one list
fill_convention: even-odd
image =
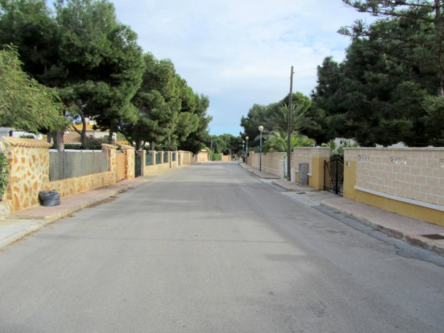
[(176, 74), (171, 60), (157, 60), (147, 53), (144, 61), (142, 85), (133, 98), (139, 119), (124, 124), (123, 132), (139, 146), (155, 142), (157, 146), (199, 151), (203, 148), (201, 136), (211, 120), (205, 114), (207, 97), (194, 94)]

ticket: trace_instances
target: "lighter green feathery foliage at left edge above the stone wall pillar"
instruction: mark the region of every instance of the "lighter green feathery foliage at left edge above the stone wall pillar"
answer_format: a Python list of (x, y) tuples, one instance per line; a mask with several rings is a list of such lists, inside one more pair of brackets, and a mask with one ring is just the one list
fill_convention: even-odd
[(29, 78), (21, 65), (15, 48), (0, 51), (0, 125), (31, 133), (64, 130), (67, 123), (58, 95)]

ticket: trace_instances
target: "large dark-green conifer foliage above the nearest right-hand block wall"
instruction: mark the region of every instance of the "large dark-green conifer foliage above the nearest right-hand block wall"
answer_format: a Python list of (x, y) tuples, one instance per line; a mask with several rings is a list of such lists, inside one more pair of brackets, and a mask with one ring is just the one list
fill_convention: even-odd
[(312, 99), (328, 136), (363, 146), (439, 144), (441, 107), (429, 101), (444, 98), (442, 1), (343, 3), (380, 18), (341, 28), (352, 37), (345, 61), (329, 57), (318, 67)]

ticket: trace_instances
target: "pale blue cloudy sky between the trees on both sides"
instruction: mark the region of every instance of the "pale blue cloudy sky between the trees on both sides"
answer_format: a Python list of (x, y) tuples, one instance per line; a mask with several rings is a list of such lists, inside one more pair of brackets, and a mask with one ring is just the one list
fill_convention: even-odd
[(239, 135), (253, 104), (293, 92), (309, 96), (326, 56), (341, 61), (347, 37), (336, 31), (370, 17), (341, 0), (112, 0), (145, 52), (169, 58), (210, 99), (210, 133)]

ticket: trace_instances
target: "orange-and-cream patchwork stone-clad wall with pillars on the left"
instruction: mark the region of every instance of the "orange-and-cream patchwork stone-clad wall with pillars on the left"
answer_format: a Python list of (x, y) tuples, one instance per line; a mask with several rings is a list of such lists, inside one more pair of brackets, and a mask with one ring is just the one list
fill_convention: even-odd
[[(9, 160), (9, 183), (0, 202), (0, 219), (4, 219), (10, 212), (40, 205), (40, 191), (54, 189), (64, 198), (117, 182), (117, 147), (109, 144), (102, 145), (103, 153), (108, 154), (108, 171), (50, 182), (50, 146), (42, 140), (2, 138), (1, 150)], [(125, 149), (126, 179), (134, 178), (134, 148), (131, 148)]]

